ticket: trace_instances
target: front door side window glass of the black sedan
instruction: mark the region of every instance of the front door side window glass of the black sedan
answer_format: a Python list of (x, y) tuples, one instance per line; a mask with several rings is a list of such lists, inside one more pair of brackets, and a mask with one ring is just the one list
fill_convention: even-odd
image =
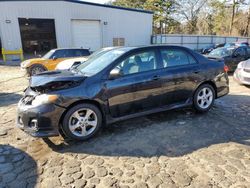
[(154, 51), (134, 54), (122, 61), (119, 68), (123, 75), (135, 74), (156, 69), (156, 56)]

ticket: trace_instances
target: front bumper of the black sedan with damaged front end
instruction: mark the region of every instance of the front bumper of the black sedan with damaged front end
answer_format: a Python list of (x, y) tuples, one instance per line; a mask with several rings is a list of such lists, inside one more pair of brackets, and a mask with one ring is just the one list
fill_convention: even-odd
[(17, 127), (34, 137), (58, 136), (64, 111), (65, 108), (55, 104), (25, 105), (21, 99), (17, 109)]

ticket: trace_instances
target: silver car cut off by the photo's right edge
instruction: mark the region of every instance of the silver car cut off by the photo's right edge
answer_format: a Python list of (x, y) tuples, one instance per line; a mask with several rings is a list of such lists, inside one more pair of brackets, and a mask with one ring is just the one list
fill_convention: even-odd
[(238, 64), (234, 72), (234, 79), (240, 84), (250, 85), (250, 59)]

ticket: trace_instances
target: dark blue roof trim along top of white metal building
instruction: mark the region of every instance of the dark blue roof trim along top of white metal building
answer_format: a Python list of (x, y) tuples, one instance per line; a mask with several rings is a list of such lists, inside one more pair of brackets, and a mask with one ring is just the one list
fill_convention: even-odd
[(126, 7), (120, 7), (120, 6), (114, 6), (114, 5), (86, 2), (86, 1), (81, 1), (81, 0), (1, 0), (0, 2), (11, 2), (11, 1), (66, 1), (66, 2), (70, 2), (70, 3), (79, 3), (79, 4), (85, 4), (85, 5), (120, 9), (120, 10), (128, 10), (128, 11), (141, 12), (141, 13), (146, 13), (146, 14), (153, 14), (154, 13), (152, 11), (143, 10), (143, 9), (126, 8)]

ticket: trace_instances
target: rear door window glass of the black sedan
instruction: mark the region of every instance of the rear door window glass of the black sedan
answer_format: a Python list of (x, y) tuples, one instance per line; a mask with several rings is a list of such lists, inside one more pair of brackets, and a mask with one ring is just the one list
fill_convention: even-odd
[(191, 55), (179, 49), (161, 50), (161, 56), (164, 68), (196, 63)]

